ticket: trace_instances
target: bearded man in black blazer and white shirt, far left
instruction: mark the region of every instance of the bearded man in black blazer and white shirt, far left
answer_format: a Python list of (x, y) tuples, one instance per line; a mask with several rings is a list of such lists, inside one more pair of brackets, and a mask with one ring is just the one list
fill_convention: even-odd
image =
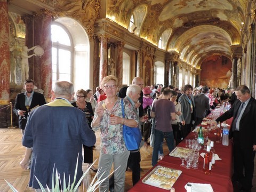
[(19, 127), (22, 134), (24, 134), (30, 110), (46, 103), (43, 94), (34, 92), (34, 81), (32, 79), (27, 79), (24, 82), (24, 89), (26, 90), (24, 93), (17, 95), (13, 108), (14, 113), (19, 116)]

